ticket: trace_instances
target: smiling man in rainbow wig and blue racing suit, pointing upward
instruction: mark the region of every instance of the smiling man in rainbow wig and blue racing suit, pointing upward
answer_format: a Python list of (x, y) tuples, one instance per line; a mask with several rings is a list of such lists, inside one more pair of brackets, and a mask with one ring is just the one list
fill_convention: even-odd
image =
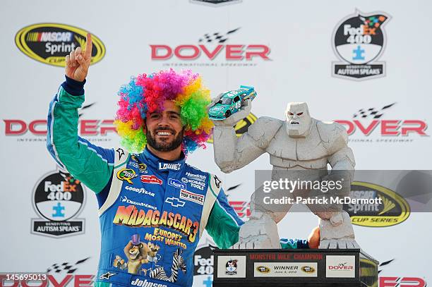
[[(78, 47), (66, 56), (66, 81), (49, 105), (47, 148), (96, 194), (101, 250), (95, 286), (191, 286), (203, 231), (229, 248), (243, 224), (219, 178), (185, 162), (210, 137), (210, 91), (191, 71), (138, 75), (119, 90), (114, 123), (123, 147), (98, 147), (77, 128), (91, 50), (88, 34), (85, 51)], [(282, 247), (313, 242), (289, 240)]]

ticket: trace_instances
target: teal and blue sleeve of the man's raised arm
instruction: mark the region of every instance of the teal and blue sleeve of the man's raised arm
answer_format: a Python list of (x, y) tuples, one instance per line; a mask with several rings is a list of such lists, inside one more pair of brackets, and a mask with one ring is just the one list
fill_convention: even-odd
[(114, 170), (114, 149), (104, 149), (78, 136), (78, 109), (84, 102), (83, 82), (66, 78), (49, 104), (47, 149), (62, 169), (95, 193), (108, 184)]

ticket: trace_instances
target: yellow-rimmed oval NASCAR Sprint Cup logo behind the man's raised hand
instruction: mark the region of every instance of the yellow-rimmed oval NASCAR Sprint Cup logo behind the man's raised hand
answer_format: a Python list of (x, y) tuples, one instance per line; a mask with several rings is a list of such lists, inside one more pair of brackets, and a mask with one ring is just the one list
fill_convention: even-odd
[[(86, 35), (87, 31), (70, 25), (40, 23), (19, 30), (15, 43), (31, 59), (64, 67), (66, 55), (78, 47), (85, 49)], [(105, 47), (95, 35), (92, 35), (92, 43), (91, 63), (97, 63), (105, 56)]]

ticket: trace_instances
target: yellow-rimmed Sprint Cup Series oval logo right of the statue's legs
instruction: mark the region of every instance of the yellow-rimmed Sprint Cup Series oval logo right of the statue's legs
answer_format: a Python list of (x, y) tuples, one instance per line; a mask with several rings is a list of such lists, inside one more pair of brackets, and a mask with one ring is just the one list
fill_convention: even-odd
[(374, 183), (354, 181), (352, 198), (380, 198), (381, 204), (344, 204), (352, 224), (368, 227), (385, 227), (407, 220), (411, 209), (404, 198), (393, 190)]

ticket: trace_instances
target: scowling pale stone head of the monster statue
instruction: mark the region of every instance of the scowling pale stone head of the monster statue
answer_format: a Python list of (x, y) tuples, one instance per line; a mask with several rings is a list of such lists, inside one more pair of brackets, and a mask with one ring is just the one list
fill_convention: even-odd
[(287, 133), (292, 138), (306, 138), (312, 119), (305, 102), (288, 103), (285, 110)]

